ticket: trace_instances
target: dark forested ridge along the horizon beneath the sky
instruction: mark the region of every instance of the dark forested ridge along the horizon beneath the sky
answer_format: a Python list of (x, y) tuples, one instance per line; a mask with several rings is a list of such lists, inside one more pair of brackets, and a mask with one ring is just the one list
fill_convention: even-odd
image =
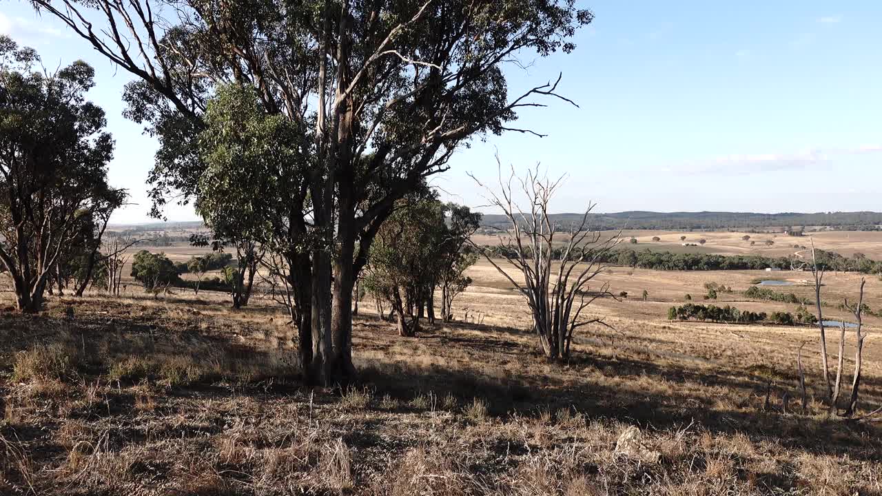
[[(557, 222), (580, 222), (582, 214), (552, 214)], [(504, 215), (485, 214), (483, 226), (505, 228)], [(821, 212), (817, 214), (753, 214), (747, 212), (618, 212), (590, 214), (591, 229), (772, 229), (825, 226), (840, 230), (879, 230), (882, 213)], [(805, 229), (811, 230), (811, 229)]]

